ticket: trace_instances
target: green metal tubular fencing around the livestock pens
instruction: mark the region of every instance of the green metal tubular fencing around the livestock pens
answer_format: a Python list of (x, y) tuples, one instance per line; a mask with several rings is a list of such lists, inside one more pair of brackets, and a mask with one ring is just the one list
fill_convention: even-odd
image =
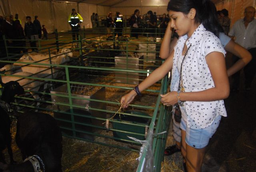
[[(81, 33), (80, 33), (81, 34)], [(128, 66), (130, 64), (128, 64), (128, 61), (126, 61), (124, 64), (126, 64), (126, 68), (115, 68), (115, 57), (116, 54), (118, 54), (120, 56), (120, 54), (122, 56), (124, 56), (127, 60), (129, 60), (129, 52), (136, 52), (136, 53), (140, 53), (140, 52), (145, 52), (145, 53), (150, 53), (150, 52), (154, 52), (156, 54), (159, 53), (159, 50), (156, 48), (156, 50), (154, 51), (148, 51), (148, 49), (146, 50), (130, 50), (129, 49), (129, 45), (130, 44), (139, 44), (139, 43), (144, 43), (144, 44), (158, 44), (160, 45), (160, 42), (156, 42), (156, 40), (150, 40), (150, 38), (146, 37), (144, 38), (144, 40), (134, 40), (134, 41), (127, 41), (127, 40), (117, 40), (117, 38), (115, 38), (115, 36), (113, 35), (112, 40), (103, 40), (102, 38), (104, 37), (104, 33), (98, 33), (96, 36), (87, 36), (88, 33), (84, 33), (84, 35), (86, 35), (85, 38), (81, 38), (81, 36), (79, 37), (79, 40), (76, 40), (75, 43), (78, 43), (75, 48), (72, 48), (72, 52), (74, 52), (74, 54), (76, 54), (76, 56), (74, 58), (72, 58), (72, 60), (70, 60), (68, 62), (68, 64), (52, 64), (51, 63), (51, 59), (55, 58), (55, 56), (49, 56), (49, 60), (50, 63), (49, 64), (45, 64), (42, 63), (43, 60), (37, 61), (37, 62), (16, 62), (15, 60), (17, 60), (18, 57), (20, 57), (20, 54), (8, 54), (7, 52), (7, 57), (6, 58), (2, 58), (0, 60), (0, 63), (4, 63), (4, 64), (13, 64), (14, 62), (17, 64), (22, 64), (24, 66), (31, 66), (31, 65), (40, 65), (40, 66), (48, 66), (48, 69), (51, 69), (51, 74), (49, 74), (48, 76), (45, 76), (44, 78), (41, 77), (35, 77), (34, 74), (32, 74), (31, 76), (20, 76), (20, 75), (14, 75), (14, 74), (4, 74), (4, 73), (0, 73), (1, 76), (15, 76), (15, 77), (19, 77), (20, 80), (22, 80), (22, 78), (28, 78), (28, 79), (32, 79), (34, 81), (40, 81), (42, 82), (40, 85), (38, 85), (37, 87), (40, 87), (41, 85), (46, 85), (46, 84), (53, 84), (54, 88), (58, 88), (59, 86), (62, 86), (63, 84), (66, 84), (67, 86), (67, 92), (66, 94), (56, 94), (56, 93), (51, 93), (48, 89), (52, 88), (52, 85), (49, 85), (47, 87), (44, 87), (43, 89), (34, 91), (34, 90), (25, 90), (26, 92), (32, 92), (33, 94), (38, 94), (40, 96), (40, 99), (35, 99), (34, 97), (30, 96), (16, 96), (17, 102), (13, 103), (13, 106), (19, 106), (20, 109), (18, 110), (18, 112), (24, 112), (28, 109), (33, 109), (33, 110), (40, 110), (40, 111), (48, 111), (48, 112), (53, 112), (53, 113), (61, 113), (67, 116), (70, 116), (70, 119), (64, 119), (64, 118), (58, 118), (56, 117), (56, 119), (59, 122), (66, 122), (71, 124), (72, 127), (65, 127), (65, 126), (61, 126), (61, 129), (63, 130), (69, 130), (72, 134), (63, 134), (64, 136), (67, 137), (71, 137), (71, 138), (75, 138), (75, 139), (79, 139), (79, 140), (85, 140), (88, 142), (93, 142), (96, 144), (102, 144), (105, 146), (112, 146), (112, 147), (116, 147), (116, 148), (122, 148), (122, 149), (126, 149), (126, 150), (132, 150), (132, 151), (137, 151), (134, 148), (128, 148), (127, 146), (119, 146), (118, 144), (114, 145), (114, 144), (108, 144), (105, 142), (99, 142), (99, 141), (95, 141), (92, 139), (87, 139), (87, 138), (81, 138), (80, 136), (77, 136), (77, 133), (82, 133), (82, 134), (86, 134), (88, 136), (92, 135), (92, 136), (96, 136), (96, 137), (102, 137), (102, 138), (108, 138), (108, 139), (114, 139), (114, 140), (118, 140), (118, 141), (122, 141), (122, 142), (126, 142), (126, 143), (130, 143), (130, 144), (138, 144), (138, 142), (133, 141), (133, 140), (129, 140), (128, 138), (118, 138), (118, 137), (114, 137), (114, 136), (110, 136), (109, 134), (105, 134), (105, 133), (93, 133), (90, 131), (86, 131), (86, 130), (80, 130), (78, 128), (76, 128), (76, 126), (85, 126), (85, 127), (92, 127), (92, 128), (97, 128), (99, 130), (105, 130), (106, 133), (108, 132), (120, 132), (121, 134), (132, 134), (135, 136), (146, 136), (146, 134), (142, 134), (142, 133), (138, 133), (138, 132), (131, 132), (131, 131), (126, 131), (126, 130), (122, 130), (122, 129), (116, 129), (110, 126), (107, 126), (106, 124), (108, 123), (120, 123), (120, 124), (125, 124), (128, 126), (134, 126), (134, 127), (143, 127), (145, 128), (145, 130), (147, 131), (148, 128), (148, 133), (149, 132), (154, 132), (153, 136), (147, 135), (146, 141), (150, 142), (152, 144), (147, 145), (147, 146), (152, 146), (152, 150), (153, 150), (153, 154), (154, 154), (154, 171), (160, 171), (161, 168), (161, 162), (163, 160), (163, 151), (164, 151), (164, 147), (165, 147), (165, 143), (166, 143), (166, 138), (167, 138), (167, 132), (162, 133), (164, 131), (168, 131), (168, 127), (169, 127), (169, 122), (170, 122), (170, 110), (166, 107), (164, 107), (162, 104), (160, 104), (160, 94), (165, 94), (167, 92), (167, 87), (168, 87), (168, 76), (166, 76), (162, 81), (161, 81), (161, 85), (160, 85), (160, 91), (157, 89), (148, 89), (145, 90), (146, 92), (151, 92), (154, 95), (158, 95), (157, 101), (155, 103), (155, 106), (148, 106), (148, 105), (142, 105), (142, 104), (131, 104), (130, 106), (132, 108), (134, 108), (134, 110), (139, 110), (139, 111), (147, 111), (147, 110), (154, 110), (154, 113), (151, 114), (151, 116), (142, 116), (142, 115), (138, 115), (138, 114), (131, 114), (131, 113), (126, 113), (126, 112), (120, 112), (120, 114), (124, 114), (126, 116), (134, 116), (134, 117), (138, 117), (138, 118), (148, 118), (151, 120), (150, 125), (147, 126), (147, 124), (139, 124), (139, 123), (130, 123), (130, 122), (125, 122), (122, 120), (116, 120), (113, 119), (112, 116), (113, 114), (116, 113), (116, 110), (118, 110), (120, 108), (120, 103), (115, 101), (115, 100), (100, 100), (98, 98), (84, 98), (84, 97), (78, 97), (78, 96), (74, 96), (74, 94), (72, 94), (72, 86), (75, 84), (78, 84), (80, 86), (90, 86), (90, 87), (104, 87), (105, 89), (120, 89), (123, 90), (123, 93), (125, 93), (128, 90), (132, 90), (132, 88), (134, 87), (132, 84), (127, 84), (126, 86), (123, 85), (118, 85), (118, 83), (115, 82), (114, 78), (115, 78), (115, 74), (117, 74), (118, 72), (126, 72), (128, 74), (135, 74), (138, 76), (143, 76), (144, 78), (150, 74), (150, 72), (152, 72), (152, 70), (154, 70), (154, 68), (158, 67), (160, 64), (162, 64), (162, 60), (160, 59), (155, 59), (155, 63), (154, 64), (150, 64), (150, 63), (146, 63), (147, 60), (142, 59), (141, 61), (144, 62), (143, 64), (132, 64), (134, 66), (142, 66), (142, 69), (130, 69), (128, 68)], [(106, 33), (105, 33), (106, 34)], [(114, 33), (112, 33), (114, 34)], [(52, 39), (52, 40), (38, 40), (38, 49), (39, 52), (48, 52), (48, 54), (50, 54), (50, 52), (52, 51), (58, 51), (61, 50), (65, 47), (70, 46), (70, 44), (72, 44), (72, 40), (67, 39), (67, 36), (69, 35), (70, 37), (70, 33), (69, 32), (65, 32), (65, 33), (58, 33), (56, 30), (56, 38)], [(62, 37), (60, 37), (62, 36)], [(99, 47), (94, 47), (94, 45), (92, 44), (86, 44), (88, 42), (92, 42), (93, 40), (97, 40), (97, 42), (95, 42), (95, 45), (99, 45)], [(5, 40), (8, 41), (8, 40)], [(102, 48), (102, 44), (109, 44), (107, 46), (107, 48)], [(74, 44), (74, 42), (73, 42)], [(120, 44), (124, 45), (124, 49), (118, 49), (116, 47), (120, 47)], [(6, 46), (6, 50), (9, 47)], [(90, 52), (91, 51), (91, 52)], [(114, 56), (94, 56), (92, 53), (93, 52), (100, 52), (102, 51), (103, 54), (105, 52), (114, 52)], [(121, 52), (121, 53), (120, 53)], [(24, 53), (25, 54), (25, 53)], [(103, 59), (103, 60), (102, 60)], [(44, 59), (45, 60), (45, 59)], [(97, 67), (95, 66), (95, 64), (100, 64)], [(107, 64), (107, 65), (106, 65)], [(108, 66), (109, 65), (109, 66)], [(62, 78), (54, 78), (53, 77), (53, 70), (54, 68), (60, 68), (60, 70), (62, 70), (64, 72), (64, 75), (62, 75)], [(150, 68), (150, 70), (149, 70)], [(42, 71), (41, 71), (42, 72)], [(40, 73), (40, 72), (39, 72)], [(49, 77), (51, 76), (51, 77)], [(63, 77), (64, 76), (64, 77)], [(78, 76), (85, 76), (88, 77), (90, 82), (86, 82), (86, 80), (80, 80), (80, 78)], [(82, 78), (82, 77), (81, 77)], [(99, 81), (104, 80), (104, 83), (100, 83)], [(126, 80), (130, 80), (129, 77), (126, 77)], [(143, 79), (137, 79), (138, 82), (140, 82)], [(159, 87), (159, 84), (157, 85)], [(60, 98), (65, 98), (66, 100), (68, 100), (67, 102), (54, 102), (51, 99), (51, 96), (58, 96)], [(121, 98), (121, 95), (120, 95)], [(77, 105), (74, 103), (74, 100), (81, 100), (81, 101), (90, 101), (90, 102), (94, 102), (94, 103), (104, 103), (108, 106), (112, 106), (114, 108), (112, 109), (99, 109), (99, 108), (95, 108), (92, 106), (81, 106), (81, 105)], [(37, 106), (34, 102), (38, 102), (40, 103), (39, 106)], [(52, 106), (63, 106), (68, 108), (68, 112), (67, 111), (62, 111), (62, 110), (56, 110), (56, 109), (49, 109), (48, 106), (52, 105)], [(75, 112), (75, 109), (85, 109), (88, 111), (97, 111), (100, 113), (106, 113), (107, 116), (105, 118), (102, 117), (98, 117), (98, 116), (85, 116), (82, 113), (79, 112)], [(81, 118), (86, 118), (86, 119), (90, 119), (90, 120), (98, 120), (101, 121), (102, 123), (104, 123), (104, 125), (94, 125), (94, 124), (88, 124), (88, 123), (84, 123), (84, 122), (79, 122), (76, 120), (76, 118), (81, 117)], [(161, 134), (159, 134), (161, 133)], [(147, 155), (147, 150), (148, 148), (144, 149), (143, 154), (142, 154), (142, 159), (144, 159)], [(143, 169), (143, 163), (142, 161), (140, 161), (139, 166), (137, 171), (142, 171)]]

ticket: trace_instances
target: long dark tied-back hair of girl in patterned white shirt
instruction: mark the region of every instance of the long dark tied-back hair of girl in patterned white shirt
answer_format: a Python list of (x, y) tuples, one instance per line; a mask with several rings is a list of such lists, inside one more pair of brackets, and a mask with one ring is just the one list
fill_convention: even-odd
[(210, 0), (170, 0), (167, 6), (168, 11), (184, 14), (188, 14), (191, 8), (196, 9), (195, 22), (202, 23), (206, 30), (219, 36), (223, 29), (218, 22), (216, 7)]

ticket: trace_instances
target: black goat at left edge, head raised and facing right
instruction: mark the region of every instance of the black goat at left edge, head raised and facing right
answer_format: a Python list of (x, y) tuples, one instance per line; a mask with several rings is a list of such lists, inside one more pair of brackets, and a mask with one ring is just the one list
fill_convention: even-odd
[(14, 101), (14, 96), (18, 94), (23, 94), (24, 89), (16, 81), (10, 81), (6, 84), (0, 84), (0, 87), (4, 87), (1, 100), (0, 100), (0, 162), (6, 163), (4, 154), (2, 151), (7, 147), (10, 156), (10, 163), (13, 164), (13, 155), (11, 148), (11, 135), (10, 126), (11, 121), (9, 118), (10, 112), (10, 102)]

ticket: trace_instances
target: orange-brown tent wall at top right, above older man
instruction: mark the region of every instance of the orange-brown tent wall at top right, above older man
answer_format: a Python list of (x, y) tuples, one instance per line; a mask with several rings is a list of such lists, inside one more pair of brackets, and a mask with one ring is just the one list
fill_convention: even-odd
[(256, 0), (224, 0), (215, 5), (217, 10), (222, 10), (223, 8), (228, 10), (232, 27), (237, 20), (244, 17), (244, 9), (247, 6), (254, 6), (254, 8), (256, 8)]

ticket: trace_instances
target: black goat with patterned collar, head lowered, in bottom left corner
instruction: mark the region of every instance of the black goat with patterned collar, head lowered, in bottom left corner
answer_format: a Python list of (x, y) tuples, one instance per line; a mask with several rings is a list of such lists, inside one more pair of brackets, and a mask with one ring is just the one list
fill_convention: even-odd
[(18, 116), (16, 144), (21, 164), (1, 164), (4, 172), (62, 172), (62, 135), (49, 114), (26, 112)]

